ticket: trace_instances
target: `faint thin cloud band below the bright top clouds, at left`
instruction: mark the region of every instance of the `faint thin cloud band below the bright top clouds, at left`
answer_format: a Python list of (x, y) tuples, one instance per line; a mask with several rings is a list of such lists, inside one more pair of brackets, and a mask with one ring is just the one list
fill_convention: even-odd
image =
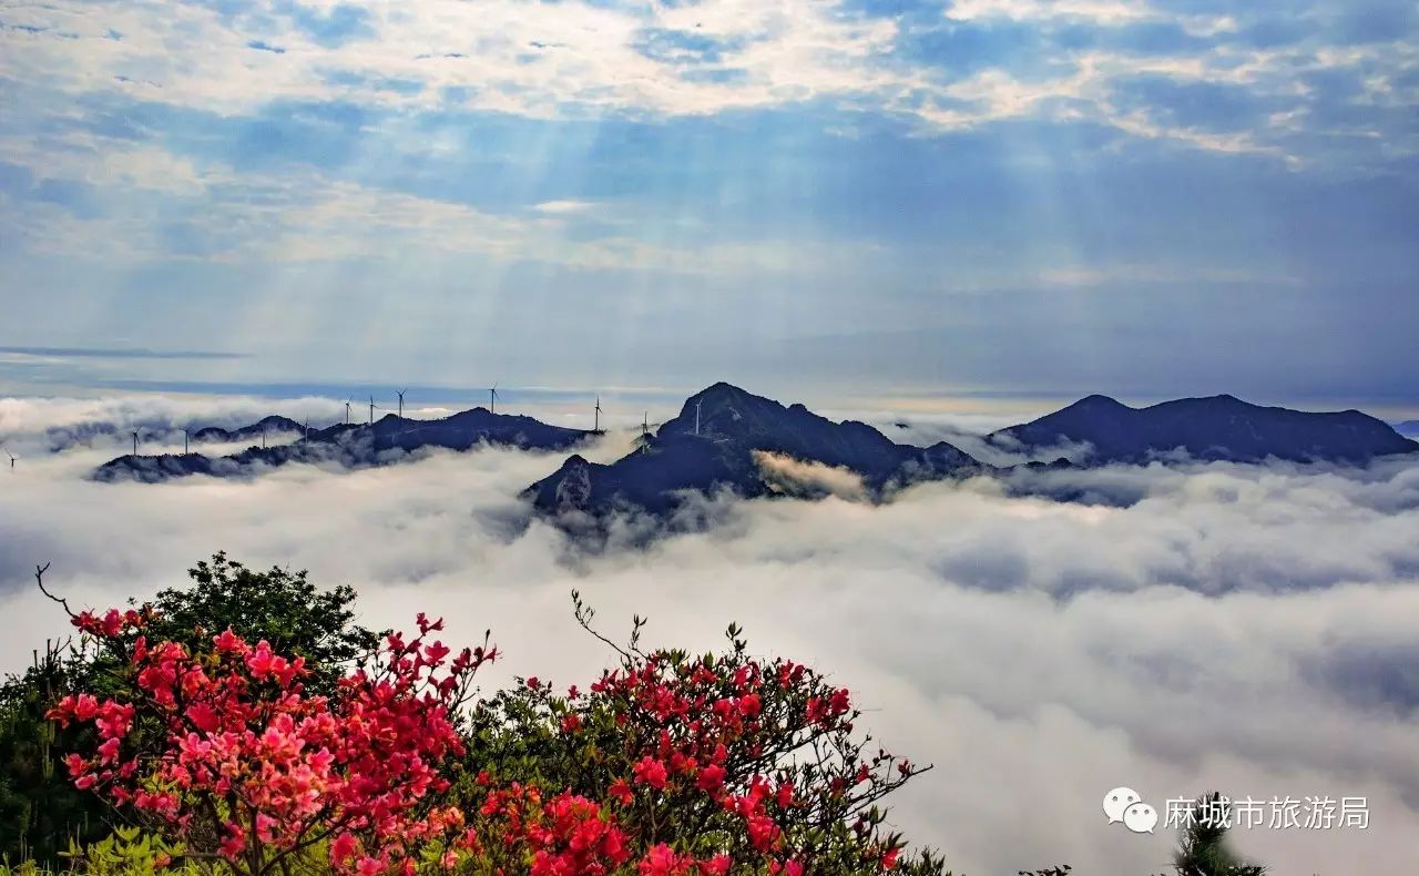
[[(35, 180), (57, 179), (99, 187), (128, 187), (123, 210), (88, 214), (57, 203), (31, 203), (24, 210), (0, 192), (0, 231), (23, 240), (30, 253), (140, 263), (197, 258), (233, 264), (343, 260), (394, 260), (412, 253), (475, 256), (499, 263), (534, 261), (589, 270), (724, 273), (789, 271), (805, 260), (858, 265), (880, 253), (870, 243), (829, 244), (819, 240), (651, 243), (627, 233), (578, 239), (566, 223), (596, 204), (553, 200), (532, 216), (492, 213), (467, 203), (421, 197), (331, 179), (315, 170), (244, 173), (220, 163), (197, 169), (193, 162), (158, 146), (135, 148), (122, 141), (71, 135), (55, 150), (50, 142), (0, 139), (13, 148), (9, 159)], [(133, 190), (162, 192), (173, 202), (133, 199)], [(182, 229), (186, 244), (173, 248), (166, 236)]]

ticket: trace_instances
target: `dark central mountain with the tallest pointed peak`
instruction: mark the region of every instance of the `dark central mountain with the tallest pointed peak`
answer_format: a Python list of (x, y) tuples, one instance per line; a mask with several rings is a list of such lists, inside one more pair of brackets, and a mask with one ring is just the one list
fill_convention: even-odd
[[(698, 433), (697, 433), (698, 416)], [(783, 405), (738, 386), (715, 383), (685, 402), (680, 415), (630, 454), (612, 464), (580, 456), (531, 487), (538, 510), (600, 514), (633, 507), (654, 514), (675, 510), (684, 491), (728, 488), (744, 497), (793, 491), (765, 471), (758, 454), (847, 469), (870, 493), (893, 483), (935, 480), (975, 473), (976, 460), (956, 447), (897, 444), (871, 426), (834, 423), (803, 405)], [(812, 494), (812, 484), (802, 490)]]

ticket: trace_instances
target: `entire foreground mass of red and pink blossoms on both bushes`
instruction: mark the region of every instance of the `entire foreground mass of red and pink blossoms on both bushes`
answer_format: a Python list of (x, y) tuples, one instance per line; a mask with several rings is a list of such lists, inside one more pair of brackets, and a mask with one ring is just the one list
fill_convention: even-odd
[(311, 856), (362, 876), (897, 867), (901, 839), (874, 804), (920, 770), (854, 737), (846, 689), (748, 656), (735, 628), (725, 656), (633, 640), (585, 691), (526, 679), (460, 717), (497, 650), (454, 655), (423, 615), (329, 696), (267, 640), (228, 628), (149, 643), (150, 619), (77, 616), (129, 693), (67, 696), (48, 717), (96, 731), (67, 761), (77, 787), (244, 876)]

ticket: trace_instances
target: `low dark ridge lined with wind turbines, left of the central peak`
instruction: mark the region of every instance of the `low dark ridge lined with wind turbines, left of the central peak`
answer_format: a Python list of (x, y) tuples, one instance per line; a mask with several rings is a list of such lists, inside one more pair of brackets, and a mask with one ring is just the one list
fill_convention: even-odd
[[(261, 422), (277, 419), (284, 417), (267, 417)], [(244, 429), (251, 427), (257, 429), (257, 436), (261, 434), (260, 423)], [(302, 427), (297, 425), (295, 432), (301, 430)], [(549, 426), (528, 416), (490, 413), (485, 407), (474, 407), (440, 420), (413, 420), (387, 415), (375, 423), (341, 423), (326, 429), (312, 429), (309, 434), (289, 444), (248, 447), (223, 457), (200, 453), (121, 456), (99, 466), (94, 477), (102, 481), (146, 483), (187, 474), (244, 477), (264, 467), (287, 463), (338, 463), (349, 469), (362, 469), (397, 461), (406, 453), (421, 447), (468, 450), (478, 444), (495, 444), (524, 450), (566, 450), (589, 434), (579, 429)]]

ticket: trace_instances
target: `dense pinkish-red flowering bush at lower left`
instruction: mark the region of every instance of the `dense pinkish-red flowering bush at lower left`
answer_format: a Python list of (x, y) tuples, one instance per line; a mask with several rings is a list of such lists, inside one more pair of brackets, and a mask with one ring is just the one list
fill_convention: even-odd
[[(75, 619), (111, 640), (140, 622), (115, 612)], [(180, 836), (219, 836), (217, 850), (241, 872), (326, 839), (336, 870), (399, 869), (420, 843), (465, 835), (463, 812), (437, 799), (448, 789), (446, 762), (464, 751), (454, 710), (495, 657), (478, 647), (450, 660), (447, 646), (427, 640), (438, 629), (420, 615), (417, 637), (390, 635), (332, 699), (304, 693), (302, 657), (230, 629), (199, 655), (138, 635), (128, 655), (135, 701), (75, 694), (50, 717), (98, 730), (92, 757), (68, 758), (77, 787)], [(133, 733), (139, 714), (152, 733)]]

